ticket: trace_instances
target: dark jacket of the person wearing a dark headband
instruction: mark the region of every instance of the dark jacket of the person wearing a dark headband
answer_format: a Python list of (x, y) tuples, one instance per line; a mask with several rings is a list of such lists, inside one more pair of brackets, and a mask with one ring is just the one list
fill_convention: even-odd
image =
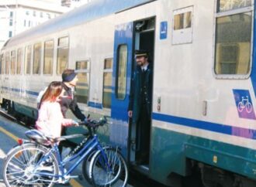
[(71, 88), (67, 87), (65, 84), (63, 84), (63, 87), (65, 90), (64, 97), (61, 97), (60, 101), (62, 114), (64, 117), (66, 117), (67, 110), (70, 108), (75, 117), (78, 117), (79, 120), (84, 121), (85, 115), (81, 113)]

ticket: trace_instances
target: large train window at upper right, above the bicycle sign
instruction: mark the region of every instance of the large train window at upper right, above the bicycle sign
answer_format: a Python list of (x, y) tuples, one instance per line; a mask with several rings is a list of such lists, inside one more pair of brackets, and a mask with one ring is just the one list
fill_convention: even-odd
[[(215, 73), (220, 76), (247, 75), (250, 72), (251, 63), (253, 8), (244, 8), (244, 6), (251, 5), (251, 1), (219, 0), (218, 2), (217, 12), (219, 12), (216, 14), (215, 35)], [(234, 8), (237, 9), (235, 13), (227, 11)]]

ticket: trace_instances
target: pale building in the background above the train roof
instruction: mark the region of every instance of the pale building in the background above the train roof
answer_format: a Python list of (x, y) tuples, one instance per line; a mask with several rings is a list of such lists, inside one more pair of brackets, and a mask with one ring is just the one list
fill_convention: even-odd
[(60, 1), (50, 0), (1, 0), (0, 49), (12, 36), (71, 10)]

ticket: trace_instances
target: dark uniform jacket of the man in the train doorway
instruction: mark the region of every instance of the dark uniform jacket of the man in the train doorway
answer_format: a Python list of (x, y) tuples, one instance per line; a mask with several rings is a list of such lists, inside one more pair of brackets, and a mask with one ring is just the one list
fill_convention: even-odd
[[(152, 84), (153, 84), (153, 69), (151, 63), (148, 64), (147, 70), (144, 75), (145, 89), (142, 88), (142, 75), (143, 72), (140, 66), (134, 70), (128, 110), (133, 110), (133, 123), (137, 123), (140, 117), (140, 107), (142, 104), (147, 105), (147, 114), (151, 115), (152, 106)], [(144, 91), (143, 91), (144, 90)], [(144, 92), (144, 93), (143, 93)], [(144, 100), (142, 100), (142, 94), (144, 94)]]

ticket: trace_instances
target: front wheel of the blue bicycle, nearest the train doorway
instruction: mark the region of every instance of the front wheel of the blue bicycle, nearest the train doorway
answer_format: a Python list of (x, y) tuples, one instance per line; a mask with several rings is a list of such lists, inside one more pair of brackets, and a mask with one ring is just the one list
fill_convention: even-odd
[(106, 148), (95, 153), (89, 167), (90, 179), (95, 186), (126, 186), (128, 168), (118, 148)]

